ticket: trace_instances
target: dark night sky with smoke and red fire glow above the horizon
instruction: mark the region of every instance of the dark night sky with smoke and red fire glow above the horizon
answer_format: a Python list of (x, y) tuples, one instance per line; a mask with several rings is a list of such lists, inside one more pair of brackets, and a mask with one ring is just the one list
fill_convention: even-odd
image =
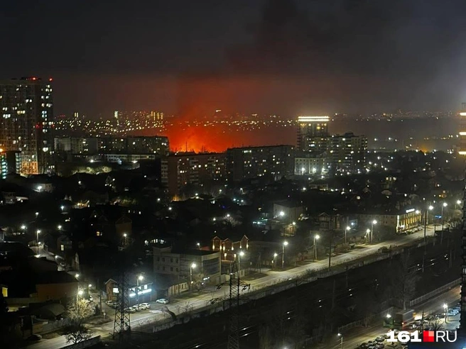
[(465, 13), (464, 0), (4, 0), (0, 77), (53, 77), (56, 113), (459, 109)]

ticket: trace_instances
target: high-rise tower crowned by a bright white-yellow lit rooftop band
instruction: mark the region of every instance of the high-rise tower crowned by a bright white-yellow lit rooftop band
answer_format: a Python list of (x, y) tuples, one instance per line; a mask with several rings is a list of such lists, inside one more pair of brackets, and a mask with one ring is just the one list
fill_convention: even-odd
[(296, 148), (304, 151), (314, 151), (310, 149), (310, 144), (319, 143), (321, 138), (327, 138), (328, 124), (330, 118), (328, 116), (298, 116), (298, 139)]

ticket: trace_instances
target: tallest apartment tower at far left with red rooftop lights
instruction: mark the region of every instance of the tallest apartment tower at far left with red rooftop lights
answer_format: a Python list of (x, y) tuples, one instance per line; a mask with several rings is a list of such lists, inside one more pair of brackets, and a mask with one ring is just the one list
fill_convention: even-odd
[(0, 111), (0, 148), (21, 151), (21, 174), (52, 170), (52, 79), (1, 80)]

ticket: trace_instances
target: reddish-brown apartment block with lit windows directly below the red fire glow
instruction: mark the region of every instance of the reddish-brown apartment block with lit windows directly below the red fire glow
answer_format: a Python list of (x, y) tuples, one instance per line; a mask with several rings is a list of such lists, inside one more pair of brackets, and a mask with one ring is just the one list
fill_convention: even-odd
[(225, 172), (224, 153), (175, 153), (161, 160), (161, 182), (172, 196), (187, 184), (224, 182)]

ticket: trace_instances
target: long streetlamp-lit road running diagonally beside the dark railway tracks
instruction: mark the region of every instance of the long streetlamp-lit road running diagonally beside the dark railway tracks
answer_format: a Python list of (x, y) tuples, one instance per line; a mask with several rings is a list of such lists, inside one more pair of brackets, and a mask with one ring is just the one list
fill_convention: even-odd
[[(340, 265), (345, 262), (350, 262), (351, 260), (355, 260), (357, 258), (361, 258), (367, 255), (373, 255), (378, 253), (379, 248), (381, 247), (389, 247), (389, 246), (401, 246), (401, 245), (408, 245), (413, 243), (414, 241), (420, 241), (423, 238), (423, 231), (419, 231), (417, 233), (413, 233), (407, 236), (398, 236), (394, 240), (388, 240), (381, 243), (376, 243), (374, 245), (365, 245), (363, 248), (357, 248), (355, 250), (351, 250), (348, 253), (344, 253), (342, 255), (337, 255), (332, 257), (332, 266)], [(433, 227), (429, 226), (427, 229), (427, 235), (433, 236)], [(50, 257), (50, 256), (48, 256)], [(319, 260), (318, 262), (312, 262), (308, 265), (301, 265), (298, 267), (293, 267), (289, 270), (269, 270), (266, 277), (261, 277), (260, 279), (251, 280), (249, 283), (251, 284), (251, 289), (249, 292), (261, 289), (264, 287), (271, 286), (273, 284), (278, 284), (280, 282), (285, 281), (286, 279), (292, 279), (295, 277), (299, 277), (300, 275), (305, 275), (308, 271), (320, 271), (325, 270), (328, 267), (328, 260)], [(227, 297), (227, 287), (222, 287), (219, 290), (215, 290), (212, 292), (203, 292), (201, 294), (197, 294), (190, 299), (183, 299), (180, 301), (175, 301), (173, 304), (168, 304), (168, 309), (173, 311), (175, 314), (180, 314), (185, 312), (187, 309), (200, 309), (203, 306), (209, 304), (209, 301), (214, 298), (222, 298)], [(244, 292), (248, 292), (247, 290)], [(97, 300), (97, 298), (94, 297)], [(105, 306), (104, 306), (105, 307)], [(141, 311), (139, 313), (131, 314), (131, 328), (134, 330), (138, 330), (139, 328), (142, 329), (143, 326), (148, 328), (148, 324), (156, 324), (158, 321), (162, 319), (170, 317), (168, 314), (161, 312), (158, 313), (157, 311), (161, 311), (163, 309), (162, 304), (155, 304), (153, 303), (151, 306), (151, 311)], [(104, 308), (105, 309), (105, 308)], [(107, 314), (109, 318), (113, 318), (113, 312), (107, 309)], [(94, 333), (102, 337), (109, 336), (109, 333), (113, 332), (113, 321), (106, 323), (102, 326), (93, 326)], [(40, 340), (38, 343), (34, 343), (29, 345), (28, 348), (31, 349), (60, 349), (66, 345), (65, 337), (60, 336), (57, 338), (53, 338), (50, 340)]]

